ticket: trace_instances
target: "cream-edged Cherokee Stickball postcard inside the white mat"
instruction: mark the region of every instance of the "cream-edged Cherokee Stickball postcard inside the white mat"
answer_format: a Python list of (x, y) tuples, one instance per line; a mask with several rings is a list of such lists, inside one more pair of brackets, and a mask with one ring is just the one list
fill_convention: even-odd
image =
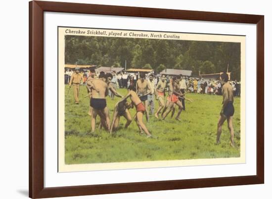
[(245, 45), (58, 27), (58, 171), (245, 163)]

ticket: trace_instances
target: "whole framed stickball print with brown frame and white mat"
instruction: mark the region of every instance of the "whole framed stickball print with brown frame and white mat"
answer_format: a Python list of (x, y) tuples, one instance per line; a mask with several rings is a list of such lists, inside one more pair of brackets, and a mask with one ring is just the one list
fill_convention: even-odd
[(31, 198), (264, 183), (264, 16), (30, 2)]

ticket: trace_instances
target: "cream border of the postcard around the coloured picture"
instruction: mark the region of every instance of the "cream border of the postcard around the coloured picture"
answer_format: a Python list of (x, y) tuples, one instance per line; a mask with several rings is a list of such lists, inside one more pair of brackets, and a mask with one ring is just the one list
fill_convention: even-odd
[[(80, 26), (57, 26), (57, 41), (58, 41), (58, 45), (57, 45), (57, 61), (58, 61), (58, 65), (57, 65), (57, 84), (58, 84), (58, 88), (57, 88), (57, 99), (58, 99), (58, 103), (57, 103), (57, 125), (58, 125), (58, 130), (57, 130), (57, 135), (58, 135), (58, 141), (57, 141), (57, 149), (58, 149), (58, 156), (57, 156), (57, 164), (58, 164), (58, 169), (57, 171), (58, 172), (81, 172), (81, 171), (104, 171), (104, 170), (122, 170), (122, 169), (142, 169), (142, 168), (165, 168), (165, 167), (180, 167), (180, 166), (198, 166), (198, 165), (226, 165), (226, 164), (240, 164), (240, 163), (246, 163), (246, 146), (244, 145), (243, 147), (240, 147), (240, 153), (239, 153), (239, 156), (238, 157), (234, 157), (234, 156), (229, 156), (229, 157), (225, 157), (225, 161), (222, 160), (223, 157), (218, 157), (218, 158), (192, 158), (192, 159), (168, 159), (168, 160), (163, 160), (163, 159), (154, 159), (154, 160), (146, 160), (146, 161), (141, 161), (141, 160), (138, 160), (138, 161), (124, 161), (124, 162), (92, 162), (92, 163), (74, 163), (74, 164), (66, 164), (65, 163), (65, 154), (66, 154), (66, 151), (62, 151), (64, 150), (64, 146), (65, 146), (65, 127), (64, 129), (62, 130), (59, 130), (60, 126), (65, 126), (65, 122), (64, 122), (64, 119), (65, 119), (65, 116), (63, 115), (61, 117), (61, 119), (59, 118), (59, 115), (61, 115), (62, 111), (59, 110), (59, 106), (61, 104), (61, 106), (63, 106), (63, 108), (65, 108), (65, 105), (64, 103), (62, 102), (62, 100), (59, 100), (59, 97), (61, 96), (61, 99), (62, 97), (65, 95), (64, 94), (64, 91), (60, 92), (59, 89), (61, 88), (60, 85), (62, 85), (62, 81), (60, 81), (60, 76), (64, 76), (64, 70), (62, 71), (60, 67), (60, 62), (59, 60), (63, 60), (64, 61), (64, 57), (60, 58), (60, 51), (59, 49), (60, 46), (64, 45), (64, 43), (62, 45), (60, 45), (59, 41), (62, 41), (63, 38), (60, 39), (60, 29), (85, 29), (85, 30), (106, 30), (106, 31), (136, 31), (136, 32), (145, 32), (145, 33), (178, 33), (178, 34), (187, 34), (187, 35), (202, 35), (202, 36), (207, 36), (207, 35), (213, 35), (213, 36), (224, 36), (224, 37), (229, 37), (228, 39), (231, 40), (231, 37), (246, 37), (246, 35), (237, 35), (237, 34), (215, 34), (215, 33), (193, 33), (193, 32), (179, 32), (179, 31), (168, 31), (168, 32), (165, 32), (165, 31), (157, 31), (157, 30), (135, 30), (135, 29), (114, 29), (114, 28), (96, 28), (96, 27), (80, 27)], [(73, 35), (75, 37), (77, 36), (80, 36), (80, 37), (107, 37), (107, 38), (110, 38), (109, 36), (87, 36), (87, 35), (82, 35), (82, 34), (79, 34), (79, 35), (74, 35), (74, 34), (69, 34), (69, 33), (63, 33), (64, 37), (66, 35)], [(181, 36), (182, 37), (182, 36)], [(111, 37), (113, 38), (113, 37)], [(133, 38), (133, 37), (119, 37), (119, 38), (122, 38), (122, 39), (125, 39), (125, 38)], [(195, 37), (194, 37), (195, 38)], [(136, 39), (143, 39), (143, 38), (136, 38)], [(148, 38), (151, 40), (151, 38)], [(163, 40), (163, 39), (152, 39), (152, 40)], [(169, 39), (164, 39), (164, 40), (169, 40)], [(194, 40), (194, 39), (171, 39), (172, 41), (205, 41), (205, 40)], [(220, 41), (219, 41), (220, 40)], [(214, 39), (214, 40), (209, 40), (209, 42), (238, 42), (238, 41), (224, 41), (224, 40), (227, 40), (227, 38), (225, 39)], [(242, 40), (242, 39), (241, 39)], [(241, 41), (240, 41), (241, 42)], [(245, 42), (244, 42), (245, 43)], [(241, 45), (241, 43), (239, 43)], [(244, 44), (245, 45), (245, 44)], [(241, 47), (242, 49), (242, 47)], [(65, 47), (63, 48), (63, 55), (65, 56)], [(245, 50), (244, 50), (245, 51)], [(245, 58), (245, 57), (244, 57)], [(240, 56), (240, 61), (241, 61), (241, 56)], [(243, 70), (244, 73), (245, 73), (245, 62), (244, 64), (241, 63), (241, 65), (243, 65)], [(242, 68), (242, 66), (241, 66)], [(62, 72), (60, 72), (62, 71)], [(61, 82), (61, 83), (60, 83)], [(244, 84), (245, 85), (245, 84)], [(61, 89), (64, 89), (64, 88), (61, 88)], [(245, 89), (245, 88), (244, 88)], [(66, 98), (66, 96), (65, 96)], [(242, 99), (245, 99), (245, 98), (242, 98)], [(244, 101), (244, 100), (243, 100)], [(245, 102), (244, 102), (245, 104)], [(240, 112), (241, 112), (241, 108), (240, 108)], [(244, 120), (245, 120), (245, 116), (243, 117)], [(241, 128), (240, 128), (241, 129)], [(60, 133), (61, 132), (61, 133)], [(242, 136), (240, 138), (240, 143), (241, 142), (245, 142), (245, 139), (246, 139), (246, 136), (245, 136), (245, 129), (242, 131)], [(241, 132), (240, 132), (241, 133)], [(61, 146), (61, 147), (60, 147)], [(60, 152), (62, 151), (62, 152)], [(220, 160), (219, 160), (220, 159)], [(232, 160), (230, 160), (232, 159)], [(233, 160), (235, 159), (235, 160)], [(186, 163), (186, 161), (191, 161), (191, 160), (194, 160), (195, 162), (194, 163)], [(208, 162), (203, 162), (203, 161), (207, 161)], [(209, 161), (210, 160), (210, 161)], [(162, 163), (164, 161), (164, 163)], [(172, 164), (169, 163), (172, 161)], [(176, 165), (174, 165), (175, 163), (173, 163), (173, 161), (176, 161)], [(183, 161), (183, 163), (181, 162), (178, 162), (178, 161)], [(213, 163), (211, 163), (211, 161), (213, 161)], [(145, 164), (144, 166), (142, 165), (143, 162), (148, 162), (147, 164)], [(151, 163), (152, 162), (152, 163)], [(160, 162), (160, 166), (156, 165), (157, 162)], [(200, 163), (201, 162), (201, 163)], [(108, 164), (111, 164), (111, 163), (120, 163), (118, 166), (108, 166)], [(133, 166), (132, 164), (128, 165), (127, 163), (134, 163), (135, 165)], [(93, 164), (96, 164), (94, 167), (91, 166)], [(97, 165), (99, 164), (99, 165)], [(122, 164), (122, 166), (120, 166)], [(141, 165), (139, 165), (141, 164)], [(184, 165), (185, 164), (185, 165)], [(83, 165), (84, 169), (81, 169), (83, 167), (81, 167), (81, 165)], [(106, 166), (105, 166), (106, 165)], [(123, 166), (124, 165), (124, 166)], [(136, 166), (137, 165), (137, 166)], [(70, 169), (68, 169), (67, 167), (70, 167)]]

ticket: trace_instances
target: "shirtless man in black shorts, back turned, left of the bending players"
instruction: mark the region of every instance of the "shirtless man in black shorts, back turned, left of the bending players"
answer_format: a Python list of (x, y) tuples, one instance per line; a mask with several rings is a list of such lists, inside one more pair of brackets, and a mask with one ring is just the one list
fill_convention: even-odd
[(97, 114), (100, 116), (101, 120), (106, 119), (107, 130), (110, 131), (109, 111), (105, 99), (105, 94), (108, 92), (108, 85), (106, 83), (105, 74), (100, 73), (99, 79), (94, 79), (90, 83), (90, 87), (91, 87), (90, 106), (92, 107), (91, 131), (94, 132), (95, 130), (95, 121)]

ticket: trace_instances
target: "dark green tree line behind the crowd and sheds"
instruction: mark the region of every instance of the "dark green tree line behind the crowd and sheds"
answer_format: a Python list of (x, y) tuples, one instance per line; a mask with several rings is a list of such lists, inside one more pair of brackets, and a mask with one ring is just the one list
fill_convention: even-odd
[(240, 80), (240, 43), (65, 36), (65, 64), (191, 70), (192, 76), (232, 72)]

